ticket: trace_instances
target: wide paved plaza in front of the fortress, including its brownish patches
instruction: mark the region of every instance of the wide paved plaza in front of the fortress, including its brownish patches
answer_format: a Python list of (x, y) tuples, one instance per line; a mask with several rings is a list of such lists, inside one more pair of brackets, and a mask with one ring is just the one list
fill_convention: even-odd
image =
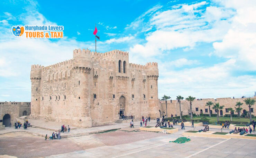
[[(139, 122), (135, 121), (135, 128), (128, 123), (108, 124), (92, 128), (75, 128), (68, 136), (61, 140), (44, 140), (45, 134), (50, 135), (52, 130), (42, 127), (28, 128), (26, 132), (6, 127), (0, 131), (0, 155), (16, 157), (49, 157), (49, 158), (82, 158), (82, 157), (256, 157), (256, 140), (249, 139), (219, 139), (189, 137), (191, 141), (184, 144), (169, 142), (182, 136), (187, 130), (199, 130), (203, 127), (185, 127), (174, 134), (161, 134), (139, 130)], [(155, 125), (155, 120), (150, 125)], [(35, 124), (35, 122), (34, 122)], [(54, 122), (45, 125), (55, 127)], [(104, 130), (110, 132), (100, 132)], [(220, 131), (220, 129), (210, 129)], [(18, 129), (24, 131), (24, 129)], [(229, 130), (223, 130), (228, 132)], [(100, 132), (100, 133), (97, 133)], [(31, 133), (33, 135), (31, 135)], [(34, 136), (37, 135), (37, 136)]]

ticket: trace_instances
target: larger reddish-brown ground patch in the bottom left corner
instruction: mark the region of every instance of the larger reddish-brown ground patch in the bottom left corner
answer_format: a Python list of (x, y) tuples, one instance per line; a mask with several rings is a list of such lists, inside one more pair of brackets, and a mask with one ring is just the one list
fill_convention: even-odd
[(15, 132), (0, 136), (0, 155), (19, 158), (42, 157), (82, 150), (69, 139), (44, 140), (43, 137)]

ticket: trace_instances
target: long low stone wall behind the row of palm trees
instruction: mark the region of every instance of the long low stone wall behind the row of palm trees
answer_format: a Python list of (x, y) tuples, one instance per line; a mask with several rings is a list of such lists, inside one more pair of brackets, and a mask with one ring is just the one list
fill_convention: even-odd
[[(184, 97), (185, 98), (185, 97)], [(213, 99), (213, 98), (209, 98), (209, 99), (202, 99), (202, 100), (194, 100), (192, 101), (192, 112), (195, 114), (200, 114), (200, 112), (204, 113), (204, 114), (209, 114), (209, 106), (205, 106), (206, 103), (208, 101), (212, 101), (213, 104), (215, 103), (219, 103), (220, 105), (224, 105), (224, 108), (222, 109), (222, 115), (226, 115), (226, 114), (230, 114), (230, 112), (226, 112), (226, 109), (228, 108), (233, 108), (234, 110), (236, 110), (236, 102), (241, 102), (244, 103), (242, 106), (240, 106), (241, 108), (243, 108), (241, 110), (241, 114), (243, 113), (243, 110), (249, 111), (249, 107), (245, 104), (244, 100), (246, 98), (217, 98), (217, 99)], [(256, 100), (256, 96), (253, 97), (253, 99)], [(165, 111), (166, 111), (166, 105), (165, 105), (165, 101), (160, 101), (160, 105), (161, 105), (161, 115), (165, 115)], [(211, 105), (210, 109), (212, 110), (213, 114), (217, 114), (214, 110), (213, 110), (213, 105)], [(253, 108), (253, 112), (252, 115), (255, 115), (255, 107), (256, 105), (253, 105), (251, 108)], [(196, 111), (198, 108), (198, 111)], [(205, 112), (205, 109), (208, 109), (207, 112)], [(175, 116), (175, 114), (177, 116), (180, 116), (180, 103), (177, 100), (168, 100), (167, 101), (167, 113), (168, 113), (168, 117), (171, 117), (171, 114), (173, 114)], [(202, 110), (202, 111), (201, 111)], [(187, 100), (181, 100), (181, 111), (182, 111), (182, 115), (189, 115), (189, 111), (190, 111), (190, 102)], [(234, 114), (237, 114), (237, 112), (234, 112)], [(220, 115), (220, 112), (219, 112)]]

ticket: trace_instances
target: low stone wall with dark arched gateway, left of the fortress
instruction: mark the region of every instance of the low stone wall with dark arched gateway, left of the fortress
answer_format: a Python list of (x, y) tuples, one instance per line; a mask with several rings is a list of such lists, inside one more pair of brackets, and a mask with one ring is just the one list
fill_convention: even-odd
[[(0, 102), (1, 125), (14, 125), (16, 118), (30, 115), (30, 102)], [(23, 122), (22, 122), (23, 124)]]

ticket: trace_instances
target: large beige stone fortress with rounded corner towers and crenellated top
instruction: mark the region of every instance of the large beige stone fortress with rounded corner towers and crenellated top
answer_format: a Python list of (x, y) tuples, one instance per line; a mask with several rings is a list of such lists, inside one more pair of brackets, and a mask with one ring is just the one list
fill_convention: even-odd
[(91, 127), (125, 116), (159, 115), (158, 65), (129, 63), (129, 53), (75, 49), (73, 59), (31, 66), (31, 117)]

